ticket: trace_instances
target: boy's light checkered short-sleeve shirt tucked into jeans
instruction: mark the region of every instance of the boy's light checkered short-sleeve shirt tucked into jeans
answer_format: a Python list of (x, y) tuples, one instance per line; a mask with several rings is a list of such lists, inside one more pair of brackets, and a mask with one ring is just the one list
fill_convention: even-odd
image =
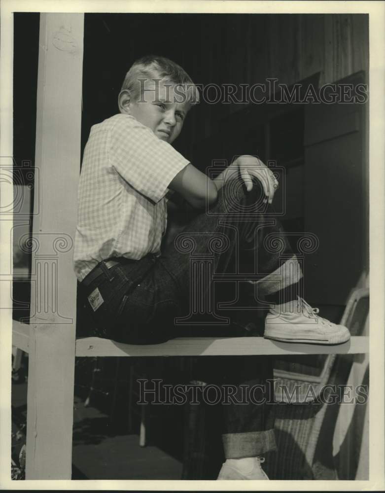
[(187, 164), (133, 116), (117, 114), (91, 128), (78, 188), (73, 266), (79, 281), (101, 260), (160, 251), (165, 194)]

